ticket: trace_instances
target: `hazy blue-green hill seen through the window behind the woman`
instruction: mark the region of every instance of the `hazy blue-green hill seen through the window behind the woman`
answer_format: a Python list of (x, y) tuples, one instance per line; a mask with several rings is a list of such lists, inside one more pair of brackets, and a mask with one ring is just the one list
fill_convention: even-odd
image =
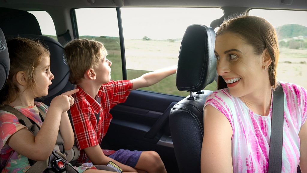
[(307, 35), (307, 27), (298, 24), (287, 24), (276, 28), (278, 39)]

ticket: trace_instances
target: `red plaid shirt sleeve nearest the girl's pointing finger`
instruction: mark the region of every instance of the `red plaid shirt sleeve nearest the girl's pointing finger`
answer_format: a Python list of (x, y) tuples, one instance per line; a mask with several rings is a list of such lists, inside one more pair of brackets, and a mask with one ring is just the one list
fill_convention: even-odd
[(96, 126), (96, 118), (91, 105), (77, 97), (70, 112), (79, 150), (98, 145), (99, 143), (94, 129)]

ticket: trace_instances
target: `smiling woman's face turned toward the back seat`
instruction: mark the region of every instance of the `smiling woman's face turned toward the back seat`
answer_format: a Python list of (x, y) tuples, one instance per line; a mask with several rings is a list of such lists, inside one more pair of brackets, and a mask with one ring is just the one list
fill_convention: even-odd
[(253, 46), (232, 32), (216, 36), (216, 70), (227, 83), (230, 94), (242, 97), (263, 86), (262, 54), (256, 55)]

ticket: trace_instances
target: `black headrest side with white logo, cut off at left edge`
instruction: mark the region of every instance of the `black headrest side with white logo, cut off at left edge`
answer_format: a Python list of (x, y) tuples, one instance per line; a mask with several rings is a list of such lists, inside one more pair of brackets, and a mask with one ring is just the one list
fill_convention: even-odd
[(6, 40), (0, 28), (0, 91), (2, 90), (10, 71), (10, 57)]

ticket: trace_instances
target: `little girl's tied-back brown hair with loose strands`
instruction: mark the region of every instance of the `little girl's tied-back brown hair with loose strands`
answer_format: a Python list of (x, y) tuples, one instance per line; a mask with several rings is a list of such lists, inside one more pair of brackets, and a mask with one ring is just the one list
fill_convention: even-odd
[(20, 90), (14, 80), (19, 71), (26, 73), (27, 88), (36, 86), (34, 80), (34, 68), (39, 65), (43, 56), (49, 56), (49, 51), (37, 40), (28, 38), (14, 38), (7, 42), (10, 56), (10, 71), (6, 85), (1, 91), (0, 105), (9, 104), (17, 99)]

